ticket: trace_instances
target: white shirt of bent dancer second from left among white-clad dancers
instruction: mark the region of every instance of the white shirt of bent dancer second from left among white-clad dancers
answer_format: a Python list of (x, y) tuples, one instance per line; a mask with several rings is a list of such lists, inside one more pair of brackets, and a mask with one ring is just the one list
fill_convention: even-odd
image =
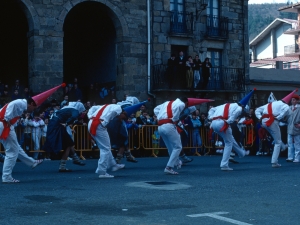
[[(99, 112), (99, 110), (101, 110), (102, 107), (104, 107), (104, 105), (92, 106), (87, 114), (88, 118), (92, 119), (93, 117), (96, 117), (97, 113)], [(116, 104), (110, 104), (106, 106), (100, 118), (97, 119), (103, 120), (102, 125), (106, 127), (109, 121), (111, 121), (116, 116), (120, 115), (121, 112), (122, 112), (121, 106)]]

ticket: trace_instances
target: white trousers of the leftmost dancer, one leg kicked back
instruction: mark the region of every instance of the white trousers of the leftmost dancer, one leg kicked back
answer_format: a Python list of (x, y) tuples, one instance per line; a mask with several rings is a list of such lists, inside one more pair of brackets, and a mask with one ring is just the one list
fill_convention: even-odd
[(10, 130), (6, 140), (1, 140), (5, 149), (5, 160), (2, 171), (2, 181), (9, 181), (12, 179), (12, 170), (19, 158), (27, 166), (32, 166), (35, 160), (29, 157), (18, 143), (16, 132), (14, 129)]

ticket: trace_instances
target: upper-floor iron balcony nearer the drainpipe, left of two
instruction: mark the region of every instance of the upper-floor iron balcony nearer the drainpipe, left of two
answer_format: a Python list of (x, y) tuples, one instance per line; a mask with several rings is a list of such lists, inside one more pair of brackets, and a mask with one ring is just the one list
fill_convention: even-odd
[(193, 13), (170, 12), (170, 34), (191, 34), (193, 33)]

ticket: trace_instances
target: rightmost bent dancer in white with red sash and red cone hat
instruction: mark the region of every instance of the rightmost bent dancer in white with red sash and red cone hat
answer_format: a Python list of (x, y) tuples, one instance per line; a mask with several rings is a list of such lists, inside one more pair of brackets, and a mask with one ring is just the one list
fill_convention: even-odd
[(261, 125), (265, 128), (274, 139), (274, 150), (272, 154), (271, 164), (273, 168), (279, 168), (281, 165), (278, 163), (280, 150), (285, 149), (286, 146), (281, 140), (281, 132), (279, 128), (279, 121), (286, 120), (291, 113), (287, 103), (290, 102), (293, 94), (298, 91), (295, 90), (280, 101), (275, 101), (263, 105), (255, 110), (257, 119), (261, 121)]

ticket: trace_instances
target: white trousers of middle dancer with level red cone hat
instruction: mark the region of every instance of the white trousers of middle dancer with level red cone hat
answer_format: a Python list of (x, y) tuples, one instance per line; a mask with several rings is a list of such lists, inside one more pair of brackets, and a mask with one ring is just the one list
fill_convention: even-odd
[(179, 154), (182, 149), (180, 135), (176, 126), (171, 123), (159, 126), (158, 133), (164, 140), (170, 156), (167, 166), (173, 168), (179, 164)]

